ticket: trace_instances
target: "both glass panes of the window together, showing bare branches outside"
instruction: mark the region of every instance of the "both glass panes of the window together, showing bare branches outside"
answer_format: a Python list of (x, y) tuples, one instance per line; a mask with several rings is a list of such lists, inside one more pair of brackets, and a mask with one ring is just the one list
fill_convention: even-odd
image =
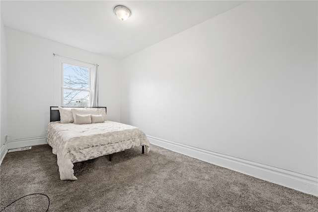
[(89, 69), (64, 64), (64, 106), (88, 106)]

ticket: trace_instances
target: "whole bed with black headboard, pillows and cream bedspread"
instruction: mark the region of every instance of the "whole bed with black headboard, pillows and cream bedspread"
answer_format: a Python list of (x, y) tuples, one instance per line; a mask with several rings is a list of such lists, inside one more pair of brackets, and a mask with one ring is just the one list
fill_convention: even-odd
[(76, 162), (137, 146), (142, 146), (142, 153), (150, 151), (146, 134), (137, 127), (107, 120), (106, 107), (51, 106), (47, 143), (57, 155), (61, 180), (77, 180)]

